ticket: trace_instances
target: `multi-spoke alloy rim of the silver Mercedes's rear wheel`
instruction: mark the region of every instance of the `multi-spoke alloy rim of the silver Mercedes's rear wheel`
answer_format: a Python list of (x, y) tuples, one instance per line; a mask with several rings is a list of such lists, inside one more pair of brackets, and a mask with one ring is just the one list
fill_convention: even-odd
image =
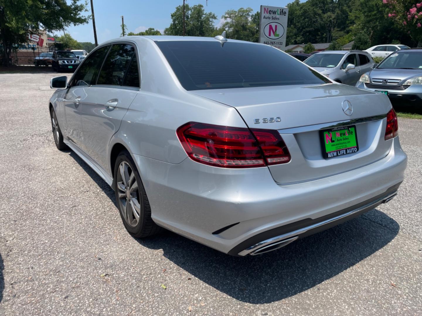
[(135, 227), (138, 225), (141, 214), (141, 198), (135, 172), (126, 161), (119, 164), (117, 190), (123, 218), (127, 224)]

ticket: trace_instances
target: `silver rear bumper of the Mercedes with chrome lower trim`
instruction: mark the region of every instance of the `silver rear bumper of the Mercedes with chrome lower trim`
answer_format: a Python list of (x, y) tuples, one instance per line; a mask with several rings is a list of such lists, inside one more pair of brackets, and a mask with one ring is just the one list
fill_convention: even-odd
[[(342, 218), (347, 220), (394, 194), (403, 181), (407, 156), (398, 137), (391, 142), (390, 153), (370, 165), (290, 185), (278, 185), (266, 167), (224, 169), (189, 158), (179, 164), (133, 158), (158, 225), (219, 251), (245, 255), (244, 250), (257, 243), (356, 210)], [(330, 224), (340, 222), (338, 218)]]

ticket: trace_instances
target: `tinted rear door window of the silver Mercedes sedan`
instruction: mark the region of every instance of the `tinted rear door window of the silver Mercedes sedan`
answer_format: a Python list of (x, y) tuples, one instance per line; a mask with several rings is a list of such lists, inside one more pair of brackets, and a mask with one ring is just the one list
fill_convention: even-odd
[(124, 73), (130, 64), (130, 60), (135, 52), (132, 45), (114, 44), (106, 57), (106, 61), (98, 76), (98, 85), (121, 86)]

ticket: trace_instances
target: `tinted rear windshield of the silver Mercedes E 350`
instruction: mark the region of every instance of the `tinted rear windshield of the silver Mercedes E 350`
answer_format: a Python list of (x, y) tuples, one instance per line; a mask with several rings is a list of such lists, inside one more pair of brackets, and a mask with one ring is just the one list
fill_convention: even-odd
[(271, 46), (217, 40), (156, 43), (186, 90), (330, 83)]

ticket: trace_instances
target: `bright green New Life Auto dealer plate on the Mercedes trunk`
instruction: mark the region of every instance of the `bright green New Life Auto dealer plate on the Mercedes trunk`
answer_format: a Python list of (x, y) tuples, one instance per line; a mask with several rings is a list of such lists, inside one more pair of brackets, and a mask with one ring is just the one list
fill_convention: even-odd
[(322, 155), (325, 159), (356, 153), (357, 144), (356, 126), (342, 126), (335, 129), (320, 131)]

